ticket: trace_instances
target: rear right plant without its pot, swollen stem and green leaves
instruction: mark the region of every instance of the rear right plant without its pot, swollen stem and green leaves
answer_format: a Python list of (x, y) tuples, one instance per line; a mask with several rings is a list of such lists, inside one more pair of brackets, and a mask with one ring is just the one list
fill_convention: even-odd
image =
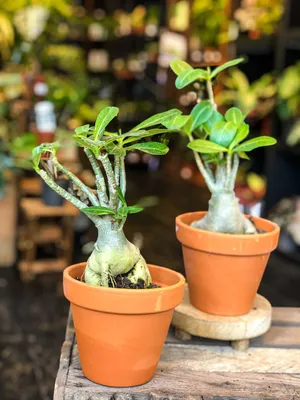
[(207, 99), (199, 99), (189, 116), (176, 116), (171, 122), (164, 123), (166, 127), (180, 129), (188, 135), (188, 147), (194, 151), (197, 166), (212, 194), (208, 213), (192, 224), (195, 228), (234, 234), (256, 233), (255, 226), (242, 214), (234, 193), (239, 159), (249, 159), (247, 153), (273, 145), (276, 140), (267, 136), (246, 140), (249, 135), (249, 125), (244, 121), (246, 115), (237, 107), (222, 115), (217, 111), (213, 92), (213, 81), (218, 74), (242, 61), (229, 61), (213, 71), (210, 68), (194, 69), (180, 60), (171, 63), (177, 75), (177, 89), (199, 82), (207, 91)]

